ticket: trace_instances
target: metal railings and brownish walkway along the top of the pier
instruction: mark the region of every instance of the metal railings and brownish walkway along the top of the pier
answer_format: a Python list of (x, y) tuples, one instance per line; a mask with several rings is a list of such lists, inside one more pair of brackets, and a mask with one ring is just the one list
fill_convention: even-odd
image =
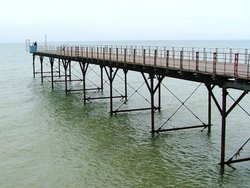
[(38, 52), (249, 79), (248, 49), (157, 46), (39, 46)]

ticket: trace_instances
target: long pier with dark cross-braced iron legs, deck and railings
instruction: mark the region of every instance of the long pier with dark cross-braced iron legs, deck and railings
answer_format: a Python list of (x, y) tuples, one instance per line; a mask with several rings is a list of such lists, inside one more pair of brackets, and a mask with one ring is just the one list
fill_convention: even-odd
[[(220, 58), (220, 59), (223, 59), (223, 61), (221, 61), (217, 56), (218, 49), (216, 49), (215, 52), (211, 52), (209, 54), (206, 52), (206, 50), (204, 50), (204, 53), (202, 54), (201, 52), (198, 52), (198, 51), (195, 52), (194, 49), (192, 48), (192, 51), (187, 51), (188, 54), (186, 54), (186, 52), (183, 49), (177, 52), (174, 48), (172, 50), (164, 48), (164, 50), (160, 51), (161, 53), (159, 53), (158, 49), (154, 49), (153, 51), (149, 49), (147, 50), (147, 53), (146, 53), (146, 49), (144, 48), (142, 50), (139, 50), (139, 48), (134, 48), (132, 50), (133, 53), (131, 53), (132, 51), (129, 53), (129, 50), (127, 48), (122, 48), (122, 47), (121, 49), (116, 48), (114, 51), (114, 49), (112, 49), (111, 47), (109, 48), (109, 50), (106, 50), (108, 48), (103, 48), (101, 50), (103, 57), (99, 56), (101, 54), (98, 51), (98, 49), (100, 49), (98, 47), (96, 51), (94, 50), (95, 48), (93, 46), (86, 47), (86, 48), (81, 47), (80, 49), (81, 49), (80, 51), (81, 53), (79, 53), (79, 46), (76, 46), (75, 50), (73, 50), (73, 47), (70, 47), (70, 48), (67, 47), (66, 51), (65, 51), (65, 48), (61, 48), (61, 53), (58, 53), (58, 51), (55, 51), (55, 50), (52, 50), (51, 52), (47, 52), (47, 51), (34, 52), (33, 53), (33, 77), (35, 77), (35, 74), (41, 73), (41, 83), (43, 83), (43, 79), (45, 77), (49, 77), (47, 75), (44, 76), (44, 73), (45, 74), (51, 73), (51, 82), (52, 82), (52, 89), (53, 89), (54, 82), (55, 82), (54, 80), (55, 71), (53, 71), (53, 66), (55, 64), (54, 58), (58, 58), (59, 59), (58, 60), (59, 77), (61, 77), (61, 73), (60, 73), (61, 65), (60, 64), (62, 62), (64, 71), (65, 71), (65, 75), (64, 75), (65, 76), (64, 77), (65, 92), (67, 94), (69, 91), (73, 91), (73, 90), (68, 89), (68, 81), (73, 81), (71, 62), (73, 61), (79, 62), (81, 71), (82, 71), (84, 103), (86, 103), (86, 100), (109, 98), (111, 116), (114, 113), (118, 113), (118, 112), (151, 110), (151, 132), (152, 134), (154, 134), (155, 132), (159, 133), (159, 132), (165, 132), (165, 131), (191, 129), (191, 128), (198, 128), (198, 127), (203, 127), (203, 128), (208, 127), (208, 131), (210, 132), (211, 125), (212, 125), (211, 101), (213, 100), (221, 115), (221, 155), (220, 155), (219, 164), (221, 165), (221, 167), (224, 168), (225, 164), (230, 165), (231, 163), (237, 163), (237, 162), (250, 160), (250, 157), (244, 158), (244, 159), (234, 159), (235, 156), (237, 156), (237, 153), (250, 140), (250, 138), (243, 144), (243, 146), (238, 150), (238, 152), (233, 157), (231, 157), (228, 160), (225, 160), (227, 116), (231, 113), (231, 111), (235, 108), (235, 106), (239, 105), (240, 101), (250, 91), (250, 86), (249, 86), (249, 57), (250, 55), (248, 54), (247, 51), (244, 54), (238, 53), (238, 52), (235, 53), (234, 54), (235, 62), (233, 63), (232, 62), (233, 61), (232, 50), (230, 50), (229, 52), (230, 59), (227, 58), (229, 57), (227, 56), (227, 53), (224, 53), (223, 51), (225, 58)], [(173, 54), (171, 55), (171, 57), (170, 57), (170, 52), (171, 54)], [(178, 53), (180, 53), (179, 57), (178, 57)], [(192, 56), (190, 54), (192, 54)], [(35, 71), (35, 56), (36, 55), (40, 58), (40, 65), (41, 65), (40, 72)], [(204, 58), (204, 61), (200, 60), (202, 56)], [(49, 57), (49, 63), (51, 66), (50, 71), (44, 71), (43, 69), (44, 57)], [(211, 59), (211, 57), (213, 58)], [(99, 65), (101, 67), (101, 89), (102, 90), (103, 90), (103, 68), (104, 68), (108, 77), (108, 81), (109, 81), (110, 95), (108, 97), (97, 97), (97, 98), (86, 97), (86, 90), (88, 89), (86, 89), (85, 81), (86, 81), (86, 72), (88, 69), (88, 63), (84, 63), (83, 61), (89, 62), (90, 64)], [(243, 61), (244, 61), (244, 64), (243, 64)], [(230, 62), (230, 63), (226, 63), (226, 62)], [(205, 63), (205, 70), (203, 70), (204, 63)], [(122, 69), (125, 74), (125, 95), (113, 96), (113, 89), (114, 89), (113, 81), (119, 69)], [(125, 98), (125, 101), (127, 101), (127, 72), (128, 70), (142, 73), (143, 79), (150, 93), (150, 107), (149, 108), (115, 110), (115, 111), (113, 110), (114, 98)], [(146, 78), (145, 74), (149, 75), (148, 79)], [(178, 78), (178, 79), (183, 79), (183, 80), (189, 80), (189, 81), (204, 83), (206, 85), (207, 90), (208, 90), (208, 124), (203, 123), (185, 105), (185, 102), (192, 96), (192, 94), (199, 87), (198, 86), (185, 101), (181, 101), (178, 97), (175, 96), (179, 100), (181, 105), (174, 112), (174, 114), (182, 106), (184, 106), (197, 119), (201, 121), (202, 125), (172, 128), (172, 129), (162, 129), (162, 126), (168, 122), (167, 120), (160, 128), (155, 130), (155, 116), (154, 116), (155, 114), (154, 113), (157, 109), (159, 111), (161, 110), (161, 82), (164, 77), (172, 77), (172, 78)], [(158, 84), (156, 86), (154, 85), (155, 78), (157, 78), (158, 80)], [(62, 81), (62, 80), (59, 80), (59, 81)], [(215, 88), (215, 86), (218, 86), (222, 89), (221, 104), (218, 102), (218, 100), (216, 99), (213, 93), (213, 89)], [(237, 100), (234, 101), (233, 105), (231, 105), (230, 108), (227, 108), (227, 96), (229, 95), (228, 93), (229, 88), (242, 90), (243, 93), (238, 97)], [(158, 107), (155, 106), (155, 93), (157, 90), (159, 91)], [(171, 115), (170, 118), (173, 117), (173, 115)]]

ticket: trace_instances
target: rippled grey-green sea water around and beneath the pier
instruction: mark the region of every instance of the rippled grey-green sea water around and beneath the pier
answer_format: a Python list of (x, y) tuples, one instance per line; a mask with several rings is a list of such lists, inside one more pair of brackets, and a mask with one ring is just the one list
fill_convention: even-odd
[[(76, 44), (250, 48), (250, 41)], [(225, 166), (221, 173), (218, 165), (221, 117), (214, 103), (211, 133), (194, 129), (152, 135), (149, 111), (110, 117), (109, 100), (84, 105), (81, 92), (66, 95), (63, 84), (56, 84), (53, 91), (49, 79), (41, 84), (39, 75), (33, 78), (32, 55), (25, 52), (24, 44), (1, 44), (0, 52), (1, 188), (250, 187), (249, 162), (233, 164), (235, 169)], [(39, 62), (36, 63), (38, 68)], [(123, 92), (122, 78), (119, 73), (114, 81), (116, 94)], [(91, 83), (98, 85), (99, 80), (98, 75), (92, 75), (89, 87)], [(123, 104), (123, 100), (116, 99), (115, 108), (149, 107), (150, 98), (143, 83), (140, 74), (129, 71), (128, 102)], [(194, 90), (186, 106), (180, 107)], [(221, 89), (216, 87), (213, 91), (221, 102)], [(162, 109), (155, 113), (156, 128), (163, 124), (163, 128), (173, 128), (207, 122), (204, 85), (165, 78), (161, 92)], [(229, 92), (234, 99), (241, 94), (235, 90)], [(87, 95), (108, 93), (105, 81), (103, 92), (88, 91)], [(229, 107), (233, 103), (230, 97)], [(226, 159), (249, 138), (250, 117), (242, 110), (250, 112), (249, 102), (247, 95), (227, 118)], [(249, 157), (250, 143), (240, 154)]]

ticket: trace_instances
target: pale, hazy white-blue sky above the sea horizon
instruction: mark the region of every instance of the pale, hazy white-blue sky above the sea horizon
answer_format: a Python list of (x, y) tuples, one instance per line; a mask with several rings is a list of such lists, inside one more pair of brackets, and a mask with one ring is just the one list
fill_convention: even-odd
[(250, 0), (1, 0), (0, 43), (249, 40)]

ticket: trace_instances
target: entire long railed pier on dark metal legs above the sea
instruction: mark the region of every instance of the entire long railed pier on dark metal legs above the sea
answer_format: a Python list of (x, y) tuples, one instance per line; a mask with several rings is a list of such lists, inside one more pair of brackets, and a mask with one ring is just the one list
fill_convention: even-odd
[[(47, 59), (48, 66), (45, 65)], [(36, 61), (39, 61), (39, 64)], [(73, 64), (78, 64), (81, 77), (73, 78)], [(90, 65), (100, 67), (98, 73), (100, 86), (94, 88), (86, 87), (87, 71)], [(40, 47), (33, 52), (33, 76), (41, 75), (41, 82), (48, 77), (51, 87), (55, 83), (65, 85), (66, 94), (80, 91), (83, 93), (83, 101), (108, 99), (110, 115), (132, 111), (149, 110), (151, 117), (151, 133), (177, 131), (183, 129), (207, 129), (211, 131), (211, 104), (215, 103), (221, 115), (221, 156), (220, 165), (243, 162), (249, 158), (235, 159), (237, 154), (226, 159), (226, 122), (227, 116), (240, 104), (241, 100), (250, 91), (250, 54), (248, 49), (211, 49), (211, 48), (177, 48), (177, 47), (142, 47), (142, 46), (49, 46)], [(39, 71), (37, 71), (39, 69)], [(113, 93), (113, 82), (117, 72), (124, 73), (124, 93), (115, 96)], [(113, 100), (120, 98), (124, 103), (128, 102), (127, 73), (135, 71), (141, 74), (150, 94), (150, 107), (136, 109), (114, 109)], [(87, 96), (88, 90), (103, 90), (103, 76), (106, 74), (109, 82), (109, 96), (92, 97)], [(177, 128), (164, 128), (155, 125), (155, 113), (161, 110), (161, 83), (164, 78), (198, 82), (207, 89), (207, 122), (200, 125), (190, 125)], [(57, 79), (62, 78), (62, 79)], [(81, 82), (81, 88), (70, 88), (70, 82)], [(215, 87), (221, 89), (221, 101), (213, 92)], [(227, 105), (227, 98), (231, 90), (241, 91), (241, 95), (234, 100), (231, 106)], [(195, 90), (194, 90), (195, 92)], [(157, 98), (157, 100), (156, 100)], [(187, 99), (188, 100), (188, 99)], [(182, 102), (182, 105), (185, 105)], [(243, 144), (242, 147), (249, 141)], [(239, 149), (239, 152), (242, 148)]]

